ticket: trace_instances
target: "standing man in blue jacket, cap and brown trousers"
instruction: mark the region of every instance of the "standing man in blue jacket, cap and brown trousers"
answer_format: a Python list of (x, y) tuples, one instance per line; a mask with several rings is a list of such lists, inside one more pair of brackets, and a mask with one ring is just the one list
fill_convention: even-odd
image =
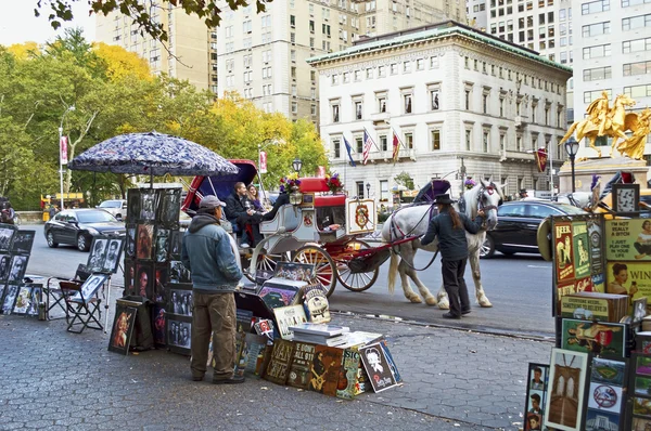
[(219, 225), (225, 204), (206, 196), (183, 235), (181, 261), (192, 275), (192, 380), (206, 374), (213, 334), (213, 383), (243, 383), (233, 376), (235, 365), (235, 297), (242, 278), (228, 234)]

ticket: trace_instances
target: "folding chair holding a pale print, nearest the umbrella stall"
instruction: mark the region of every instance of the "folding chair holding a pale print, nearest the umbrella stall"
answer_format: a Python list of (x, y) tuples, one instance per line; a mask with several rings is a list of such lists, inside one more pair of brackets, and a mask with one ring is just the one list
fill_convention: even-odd
[[(68, 332), (81, 334), (86, 328), (104, 329), (100, 323), (102, 318), (102, 310), (100, 309), (102, 300), (99, 297), (99, 290), (92, 297), (84, 298), (84, 295), (81, 295), (82, 284), (77, 282), (60, 282), (59, 286), (66, 304)], [(69, 319), (71, 315), (72, 319)], [(80, 328), (77, 329), (79, 326)]]

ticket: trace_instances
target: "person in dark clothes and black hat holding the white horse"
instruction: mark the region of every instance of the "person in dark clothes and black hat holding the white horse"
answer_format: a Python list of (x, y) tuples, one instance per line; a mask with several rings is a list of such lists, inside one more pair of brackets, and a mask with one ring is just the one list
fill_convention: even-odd
[(421, 238), (421, 245), (426, 246), (438, 237), (443, 287), (450, 301), (450, 311), (443, 316), (461, 318), (462, 314), (470, 313), (468, 287), (463, 279), (468, 262), (465, 231), (471, 234), (480, 231), (484, 223), (484, 211), (480, 210), (477, 218), (473, 221), (455, 210), (452, 207), (455, 201), (447, 194), (436, 196), (434, 203), (438, 208), (438, 214), (430, 221), (427, 232)]

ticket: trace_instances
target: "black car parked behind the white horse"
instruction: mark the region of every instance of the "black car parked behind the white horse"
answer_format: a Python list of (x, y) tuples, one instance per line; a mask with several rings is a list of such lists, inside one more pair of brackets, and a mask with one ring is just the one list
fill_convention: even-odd
[(497, 227), (486, 233), (480, 257), (490, 258), (496, 250), (505, 254), (539, 253), (536, 235), (546, 217), (586, 213), (580, 208), (549, 200), (505, 203), (497, 209)]

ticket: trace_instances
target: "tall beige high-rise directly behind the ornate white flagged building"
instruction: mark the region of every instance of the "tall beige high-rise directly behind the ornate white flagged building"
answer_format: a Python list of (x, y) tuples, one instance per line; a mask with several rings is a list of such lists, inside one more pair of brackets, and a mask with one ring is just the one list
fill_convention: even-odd
[(318, 79), (307, 58), (443, 16), (464, 21), (465, 8), (460, 0), (275, 0), (260, 14), (253, 5), (225, 12), (210, 63), (217, 93), (237, 91), (266, 112), (317, 123)]

